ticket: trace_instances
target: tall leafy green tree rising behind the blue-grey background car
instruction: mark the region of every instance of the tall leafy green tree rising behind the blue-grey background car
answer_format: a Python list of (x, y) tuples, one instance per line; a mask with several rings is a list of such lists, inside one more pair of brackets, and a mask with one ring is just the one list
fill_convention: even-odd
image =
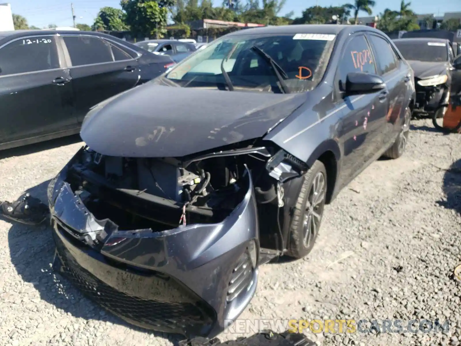
[(166, 19), (173, 0), (122, 0), (120, 4), (126, 13), (125, 23), (134, 35), (160, 38), (166, 33)]

